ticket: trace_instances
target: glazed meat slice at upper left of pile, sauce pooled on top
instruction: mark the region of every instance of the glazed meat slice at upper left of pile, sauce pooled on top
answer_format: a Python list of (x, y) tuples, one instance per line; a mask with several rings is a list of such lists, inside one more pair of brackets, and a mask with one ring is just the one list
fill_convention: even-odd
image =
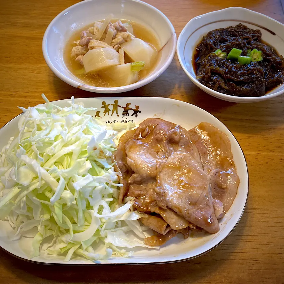
[(125, 144), (127, 164), (142, 179), (156, 178), (157, 161), (165, 159), (163, 141), (173, 127), (172, 122), (147, 118)]

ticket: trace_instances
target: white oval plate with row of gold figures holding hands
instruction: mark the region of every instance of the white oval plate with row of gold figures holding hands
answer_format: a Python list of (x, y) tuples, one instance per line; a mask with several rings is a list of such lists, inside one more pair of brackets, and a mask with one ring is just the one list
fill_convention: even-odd
[[(123, 109), (118, 107), (118, 114), (114, 112), (112, 114), (112, 106), (114, 100), (118, 100), (118, 105), (126, 106), (130, 104), (130, 108), (137, 109), (137, 117), (133, 110), (128, 111), (128, 116), (122, 116)], [(54, 104), (64, 107), (69, 106), (67, 101), (61, 100), (56, 101)], [(178, 236), (172, 238), (165, 245), (161, 246), (159, 250), (156, 249), (137, 249), (132, 257), (115, 257), (113, 256), (109, 260), (104, 260), (99, 263), (101, 264), (151, 264), (151, 263), (162, 263), (162, 262), (177, 262), (185, 259), (192, 259), (197, 256), (201, 256), (206, 252), (212, 250), (218, 246), (235, 228), (244, 212), (248, 192), (249, 192), (249, 176), (246, 165), (246, 159), (243, 151), (235, 139), (234, 135), (226, 128), (226, 126), (220, 122), (212, 114), (209, 114), (203, 109), (197, 106), (188, 104), (182, 101), (166, 98), (151, 98), (151, 97), (110, 97), (110, 98), (85, 98), (75, 99), (77, 102), (83, 102), (85, 106), (96, 107), (97, 111), (100, 111), (99, 115), (106, 123), (115, 121), (125, 122), (133, 120), (139, 125), (147, 117), (162, 118), (178, 125), (183, 126), (186, 129), (191, 129), (198, 125), (200, 122), (209, 122), (221, 131), (227, 134), (230, 139), (233, 159), (237, 168), (238, 175), (240, 177), (240, 185), (238, 187), (237, 196), (227, 212), (224, 218), (219, 220), (220, 231), (216, 234), (209, 233), (192, 233), (192, 235), (184, 240)], [(104, 113), (102, 108), (102, 102), (109, 104), (109, 113)], [(8, 142), (10, 136), (17, 135), (17, 123), (22, 114), (18, 115), (10, 122), (8, 122), (0, 130), (0, 148)], [(95, 112), (94, 112), (95, 115)], [(18, 241), (12, 241), (9, 239), (9, 234), (12, 233), (12, 228), (9, 222), (0, 220), (0, 247), (6, 250), (8, 253), (25, 260), (30, 260), (28, 255), (30, 254), (32, 238), (21, 238)], [(90, 264), (93, 263), (86, 259), (74, 258), (70, 262), (64, 262), (64, 257), (58, 256), (46, 256), (40, 255), (33, 258), (32, 262), (40, 262), (45, 264)]]

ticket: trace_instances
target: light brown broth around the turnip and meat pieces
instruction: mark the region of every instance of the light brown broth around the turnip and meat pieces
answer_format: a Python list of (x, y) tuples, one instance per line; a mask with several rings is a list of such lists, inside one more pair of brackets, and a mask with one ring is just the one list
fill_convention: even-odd
[[(112, 22), (116, 22), (119, 19), (112, 19)], [(121, 19), (120, 19), (121, 20)], [(126, 20), (121, 20), (122, 23), (128, 22)], [(158, 38), (145, 26), (138, 24), (136, 22), (130, 21), (130, 24), (133, 27), (133, 33), (136, 38), (140, 38), (146, 43), (149, 43), (150, 45), (154, 46), (157, 51), (160, 50), (160, 43)], [(74, 58), (71, 57), (71, 51), (73, 46), (76, 46), (74, 41), (80, 39), (80, 33), (82, 30), (87, 30), (89, 27), (91, 27), (93, 24), (89, 24), (85, 26), (84, 28), (81, 28), (80, 30), (76, 30), (75, 33), (72, 34), (70, 39), (67, 41), (66, 46), (64, 48), (63, 52), (63, 59), (66, 67), (68, 70), (77, 78), (79, 78), (81, 81), (83, 81), (87, 85), (96, 86), (96, 87), (102, 87), (102, 88), (110, 88), (110, 87), (116, 87), (114, 83), (111, 80), (106, 80), (105, 78), (102, 78), (98, 73), (95, 74), (82, 74), (78, 75), (78, 70), (82, 69), (82, 65), (74, 60)], [(151, 68), (147, 70), (141, 70), (139, 71), (139, 80), (147, 77), (152, 70), (156, 67), (156, 64), (159, 59), (159, 52), (158, 56), (153, 62)], [(125, 63), (132, 62), (131, 59), (125, 54)]]

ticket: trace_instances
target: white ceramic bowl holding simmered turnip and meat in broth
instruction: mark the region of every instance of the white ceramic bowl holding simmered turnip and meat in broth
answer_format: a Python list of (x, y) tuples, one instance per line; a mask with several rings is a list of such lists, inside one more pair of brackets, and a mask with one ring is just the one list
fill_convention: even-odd
[[(116, 88), (89, 86), (69, 72), (62, 53), (75, 30), (105, 19), (109, 13), (114, 14), (114, 18), (133, 20), (152, 30), (163, 47), (159, 63), (146, 78), (131, 85)], [(142, 87), (158, 78), (172, 62), (176, 41), (175, 29), (170, 20), (149, 4), (139, 0), (85, 0), (65, 9), (51, 21), (43, 36), (42, 51), (49, 68), (69, 85), (96, 93), (121, 93)]]

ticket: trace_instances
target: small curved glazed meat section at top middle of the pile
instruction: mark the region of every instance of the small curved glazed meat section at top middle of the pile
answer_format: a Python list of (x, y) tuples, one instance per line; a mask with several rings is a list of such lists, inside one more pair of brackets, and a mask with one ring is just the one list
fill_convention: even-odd
[(182, 151), (191, 154), (200, 166), (202, 166), (199, 152), (196, 145), (191, 141), (190, 133), (180, 125), (169, 131), (164, 145), (167, 157), (173, 152)]

